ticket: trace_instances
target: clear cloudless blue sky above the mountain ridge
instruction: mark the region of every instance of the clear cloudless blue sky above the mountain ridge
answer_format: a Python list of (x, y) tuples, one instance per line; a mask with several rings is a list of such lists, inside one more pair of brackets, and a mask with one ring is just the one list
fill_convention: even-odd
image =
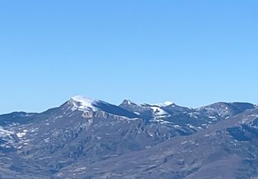
[(258, 103), (257, 0), (0, 1), (0, 114), (83, 94)]

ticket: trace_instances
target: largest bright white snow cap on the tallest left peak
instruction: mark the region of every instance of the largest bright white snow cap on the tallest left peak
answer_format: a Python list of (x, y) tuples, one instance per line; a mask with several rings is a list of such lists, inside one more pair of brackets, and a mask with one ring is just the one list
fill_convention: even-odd
[(89, 98), (86, 96), (74, 96), (71, 98), (72, 103), (74, 107), (82, 110), (93, 110), (96, 112), (98, 110), (98, 107), (96, 105), (100, 103), (101, 101), (94, 99), (94, 98)]

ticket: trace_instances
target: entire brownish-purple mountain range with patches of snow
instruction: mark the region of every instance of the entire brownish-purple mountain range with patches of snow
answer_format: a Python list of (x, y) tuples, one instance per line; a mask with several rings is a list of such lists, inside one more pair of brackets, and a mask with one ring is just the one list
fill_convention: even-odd
[(258, 178), (258, 106), (74, 96), (0, 115), (0, 178)]

